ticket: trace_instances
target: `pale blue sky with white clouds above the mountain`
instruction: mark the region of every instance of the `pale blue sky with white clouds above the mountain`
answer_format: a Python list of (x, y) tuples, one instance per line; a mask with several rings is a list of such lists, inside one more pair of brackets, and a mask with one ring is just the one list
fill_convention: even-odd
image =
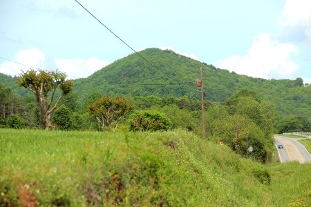
[[(134, 50), (170, 49), (241, 75), (311, 83), (311, 0), (78, 1)], [(75, 0), (0, 0), (6, 75), (32, 66), (88, 77), (131, 53)]]

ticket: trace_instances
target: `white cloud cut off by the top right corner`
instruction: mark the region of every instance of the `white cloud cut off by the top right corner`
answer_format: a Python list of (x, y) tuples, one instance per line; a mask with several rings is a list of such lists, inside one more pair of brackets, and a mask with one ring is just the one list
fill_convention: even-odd
[(302, 35), (311, 42), (311, 1), (287, 0), (280, 24), (293, 36)]

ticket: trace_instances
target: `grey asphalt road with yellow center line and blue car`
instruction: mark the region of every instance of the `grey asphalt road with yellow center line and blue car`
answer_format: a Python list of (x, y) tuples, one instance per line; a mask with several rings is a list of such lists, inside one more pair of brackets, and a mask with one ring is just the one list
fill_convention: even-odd
[[(310, 153), (295, 139), (281, 137), (279, 135), (274, 135), (274, 139), (281, 162), (299, 161), (301, 164), (311, 163)], [(279, 144), (282, 144), (284, 148), (279, 149)]]

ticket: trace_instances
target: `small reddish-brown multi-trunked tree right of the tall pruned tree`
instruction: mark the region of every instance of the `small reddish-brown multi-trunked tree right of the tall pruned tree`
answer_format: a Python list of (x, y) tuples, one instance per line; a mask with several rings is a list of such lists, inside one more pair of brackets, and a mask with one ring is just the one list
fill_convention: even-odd
[(96, 117), (102, 128), (109, 128), (113, 124), (113, 129), (117, 128), (122, 118), (127, 112), (133, 110), (133, 106), (122, 98), (112, 99), (111, 97), (101, 97), (94, 103), (87, 106), (88, 112)]

